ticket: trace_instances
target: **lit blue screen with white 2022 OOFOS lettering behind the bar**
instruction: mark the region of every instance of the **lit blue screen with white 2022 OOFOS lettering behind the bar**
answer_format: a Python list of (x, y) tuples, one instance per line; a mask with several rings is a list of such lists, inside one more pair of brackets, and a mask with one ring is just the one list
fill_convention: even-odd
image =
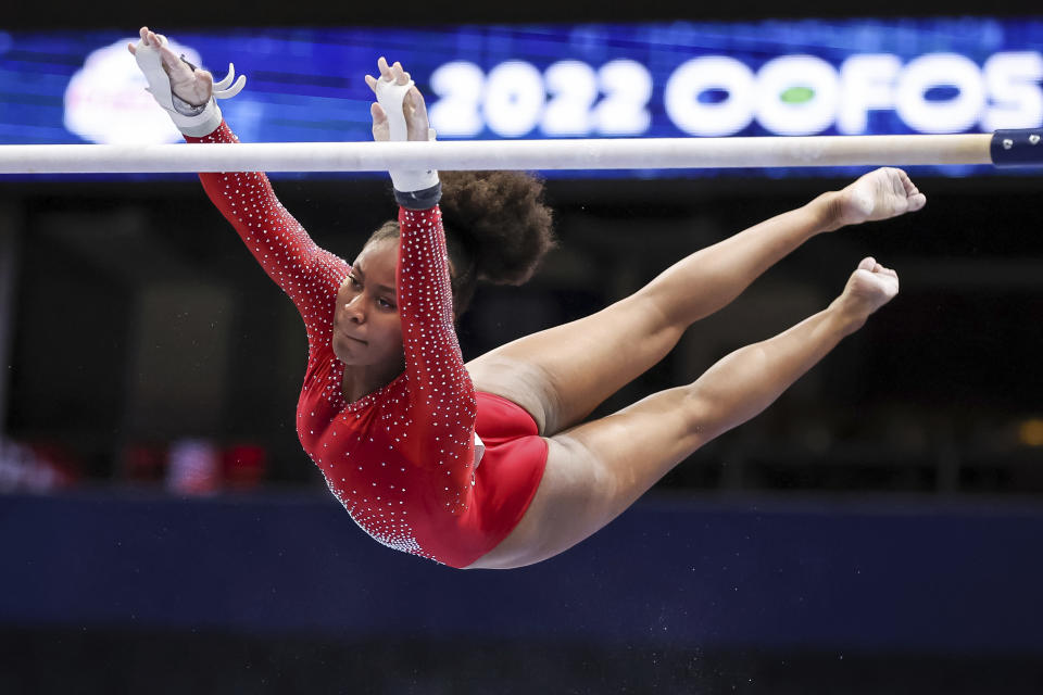
[[(177, 141), (126, 49), (136, 38), (0, 33), (0, 143)], [(376, 72), (378, 55), (412, 73), (440, 139), (1043, 125), (1043, 18), (268, 28), (171, 38), (217, 78), (230, 62), (248, 76), (247, 89), (221, 105), (253, 142), (369, 139), (363, 75)]]

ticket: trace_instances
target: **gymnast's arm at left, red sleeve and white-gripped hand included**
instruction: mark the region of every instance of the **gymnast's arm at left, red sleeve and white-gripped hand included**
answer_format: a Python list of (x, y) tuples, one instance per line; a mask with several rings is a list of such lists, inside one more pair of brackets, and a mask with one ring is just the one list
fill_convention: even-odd
[[(128, 45), (128, 49), (149, 78), (152, 96), (171, 114), (185, 139), (238, 142), (214, 101), (211, 74), (177, 56), (162, 35), (147, 27), (140, 34), (141, 40)], [(227, 87), (229, 81), (217, 87)], [(240, 77), (216, 96), (238, 93), (243, 81)], [(328, 338), (337, 289), (348, 275), (348, 264), (312, 241), (275, 197), (263, 173), (204, 173), (199, 177), (253, 256), (297, 305), (307, 326), (309, 342), (314, 346), (315, 338)]]

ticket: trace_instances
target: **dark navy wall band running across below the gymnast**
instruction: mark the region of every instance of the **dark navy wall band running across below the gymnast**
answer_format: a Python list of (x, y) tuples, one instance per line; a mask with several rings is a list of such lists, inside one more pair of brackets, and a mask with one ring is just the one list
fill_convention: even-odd
[(573, 551), (460, 571), (325, 495), (0, 497), (0, 627), (462, 635), (1043, 656), (1043, 507), (652, 498)]

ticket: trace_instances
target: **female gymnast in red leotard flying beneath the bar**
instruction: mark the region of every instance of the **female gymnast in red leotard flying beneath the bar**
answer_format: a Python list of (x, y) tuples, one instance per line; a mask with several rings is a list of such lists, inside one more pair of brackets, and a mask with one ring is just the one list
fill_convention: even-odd
[[(215, 91), (211, 74), (179, 59), (161, 35), (142, 27), (140, 37), (128, 48), (186, 139), (237, 141), (214, 96), (238, 91), (242, 78), (227, 89), (229, 74)], [(374, 137), (427, 140), (424, 99), (409, 74), (382, 58), (378, 67), (379, 77), (366, 76), (378, 97)], [(690, 384), (583, 421), (690, 325), (810, 237), (926, 202), (904, 172), (878, 169), (681, 260), (592, 316), (465, 365), (453, 326), (476, 279), (524, 281), (552, 243), (539, 185), (508, 173), (443, 175), (443, 230), (438, 174), (391, 176), (398, 222), (370, 236), (353, 264), (314, 244), (264, 174), (200, 178), (304, 318), (298, 434), (329, 489), (377, 541), (456, 568), (553, 557), (761, 413), (897, 294), (894, 270), (864, 258), (818, 314), (733, 352)]]

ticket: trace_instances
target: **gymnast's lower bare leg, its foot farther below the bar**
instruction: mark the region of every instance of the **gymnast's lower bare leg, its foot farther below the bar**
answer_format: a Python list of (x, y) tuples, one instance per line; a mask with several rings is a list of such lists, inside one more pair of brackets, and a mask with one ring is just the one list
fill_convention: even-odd
[(522, 521), (472, 567), (530, 565), (588, 538), (696, 448), (770, 405), (897, 291), (894, 270), (866, 258), (827, 309), (733, 352), (692, 384), (551, 438)]

